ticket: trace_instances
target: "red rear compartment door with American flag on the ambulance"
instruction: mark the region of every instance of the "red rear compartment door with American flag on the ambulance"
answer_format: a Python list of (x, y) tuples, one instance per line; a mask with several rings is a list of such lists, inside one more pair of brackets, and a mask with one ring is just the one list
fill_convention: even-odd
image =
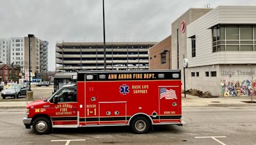
[(159, 86), (159, 116), (161, 123), (180, 121), (180, 86)]

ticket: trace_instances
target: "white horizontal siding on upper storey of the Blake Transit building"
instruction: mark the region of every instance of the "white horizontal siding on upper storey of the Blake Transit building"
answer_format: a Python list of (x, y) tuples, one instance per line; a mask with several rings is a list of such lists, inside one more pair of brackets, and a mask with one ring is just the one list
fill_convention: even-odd
[(187, 27), (187, 38), (196, 36), (196, 57), (191, 56), (191, 39), (187, 39), (189, 67), (213, 64), (256, 64), (254, 52), (212, 53), (210, 27), (217, 24), (256, 24), (256, 6), (218, 6)]

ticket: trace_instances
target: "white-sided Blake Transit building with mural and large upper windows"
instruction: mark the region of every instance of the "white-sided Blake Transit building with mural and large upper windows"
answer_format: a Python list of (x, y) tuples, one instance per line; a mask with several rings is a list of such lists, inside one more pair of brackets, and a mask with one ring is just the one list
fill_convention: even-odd
[(187, 88), (256, 95), (256, 6), (218, 6), (188, 25)]

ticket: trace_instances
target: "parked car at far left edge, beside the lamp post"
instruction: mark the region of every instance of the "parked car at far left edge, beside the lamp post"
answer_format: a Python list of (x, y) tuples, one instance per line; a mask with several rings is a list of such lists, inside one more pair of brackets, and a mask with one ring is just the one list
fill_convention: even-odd
[(8, 88), (3, 90), (1, 93), (1, 96), (3, 99), (6, 97), (14, 97), (14, 98), (19, 98), (20, 95), (26, 95), (28, 88), (26, 86), (22, 85), (10, 85)]

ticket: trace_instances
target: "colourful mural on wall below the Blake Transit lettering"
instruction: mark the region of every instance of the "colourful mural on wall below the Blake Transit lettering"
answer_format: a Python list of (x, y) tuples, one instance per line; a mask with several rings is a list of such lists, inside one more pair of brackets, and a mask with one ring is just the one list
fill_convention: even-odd
[(237, 97), (237, 96), (256, 96), (256, 80), (250, 81), (227, 81), (221, 80), (221, 96)]

